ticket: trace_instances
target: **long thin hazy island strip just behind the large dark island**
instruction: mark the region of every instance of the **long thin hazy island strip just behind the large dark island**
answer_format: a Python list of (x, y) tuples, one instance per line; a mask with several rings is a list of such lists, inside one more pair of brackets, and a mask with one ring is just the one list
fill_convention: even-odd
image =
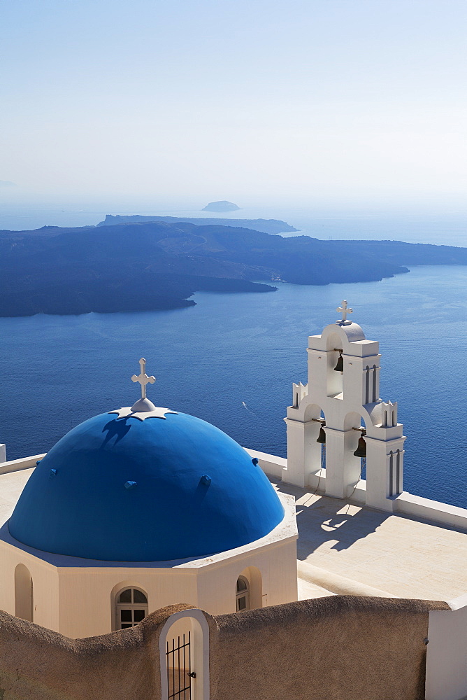
[(164, 221), (164, 223), (194, 223), (198, 226), (234, 226), (234, 228), (250, 228), (264, 233), (294, 233), (294, 228), (280, 219), (220, 219), (183, 216), (121, 216), (107, 214), (104, 221), (99, 221), (98, 226), (115, 226), (116, 223), (143, 223), (148, 221)]

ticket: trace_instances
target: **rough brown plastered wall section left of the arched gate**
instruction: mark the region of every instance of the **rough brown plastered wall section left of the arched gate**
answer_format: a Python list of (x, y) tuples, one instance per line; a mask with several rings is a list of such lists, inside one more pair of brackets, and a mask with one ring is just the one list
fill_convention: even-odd
[(132, 629), (69, 639), (0, 612), (1, 700), (159, 700), (159, 632), (171, 605)]

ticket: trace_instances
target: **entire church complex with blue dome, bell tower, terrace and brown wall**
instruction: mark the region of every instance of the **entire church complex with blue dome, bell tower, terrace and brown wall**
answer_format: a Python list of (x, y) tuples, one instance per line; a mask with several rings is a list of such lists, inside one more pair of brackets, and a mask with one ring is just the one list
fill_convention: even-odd
[(141, 358), (131, 407), (0, 463), (0, 697), (465, 700), (467, 510), (404, 491), (379, 344), (337, 311), (287, 459), (156, 407)]

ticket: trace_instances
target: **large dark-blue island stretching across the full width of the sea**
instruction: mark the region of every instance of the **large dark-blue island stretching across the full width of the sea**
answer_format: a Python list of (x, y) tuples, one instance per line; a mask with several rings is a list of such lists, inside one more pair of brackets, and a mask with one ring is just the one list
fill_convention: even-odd
[(178, 309), (201, 290), (376, 281), (410, 265), (467, 265), (467, 248), (284, 238), (183, 221), (0, 231), (0, 316)]

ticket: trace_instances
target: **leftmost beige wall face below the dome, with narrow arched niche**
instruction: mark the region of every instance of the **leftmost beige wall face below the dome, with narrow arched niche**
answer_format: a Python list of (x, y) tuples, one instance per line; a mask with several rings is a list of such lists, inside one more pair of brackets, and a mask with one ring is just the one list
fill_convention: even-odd
[(33, 621), (58, 629), (59, 582), (55, 566), (1, 540), (0, 561), (0, 609), (15, 615), (15, 569), (22, 564), (32, 579)]

